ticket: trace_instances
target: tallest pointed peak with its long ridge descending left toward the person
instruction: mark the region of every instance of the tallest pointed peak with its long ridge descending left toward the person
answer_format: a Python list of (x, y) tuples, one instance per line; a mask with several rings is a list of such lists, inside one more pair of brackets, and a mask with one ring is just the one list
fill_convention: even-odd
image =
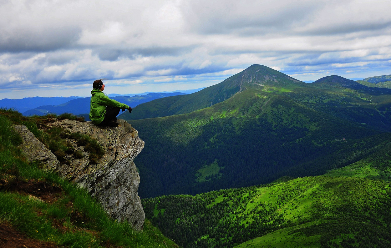
[(252, 65), (219, 84), (189, 95), (158, 99), (137, 106), (134, 111), (120, 115), (125, 120), (137, 120), (190, 113), (225, 101), (246, 89), (278, 91), (307, 87), (297, 79), (263, 65)]

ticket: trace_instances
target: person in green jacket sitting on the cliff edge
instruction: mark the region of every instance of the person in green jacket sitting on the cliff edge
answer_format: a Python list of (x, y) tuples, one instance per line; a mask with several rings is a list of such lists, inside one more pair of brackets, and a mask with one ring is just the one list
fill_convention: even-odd
[(129, 110), (130, 113), (132, 108), (126, 104), (110, 99), (107, 95), (105, 95), (103, 93), (104, 84), (102, 79), (95, 80), (92, 84), (92, 88), (90, 120), (93, 124), (98, 126), (117, 127), (117, 115), (120, 110)]

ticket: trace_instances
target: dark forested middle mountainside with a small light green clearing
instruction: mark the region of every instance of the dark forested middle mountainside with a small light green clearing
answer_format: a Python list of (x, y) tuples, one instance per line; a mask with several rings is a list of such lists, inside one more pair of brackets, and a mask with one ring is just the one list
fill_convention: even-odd
[(197, 194), (356, 162), (377, 142), (364, 138), (390, 131), (391, 103), (369, 96), (377, 99), (351, 89), (251, 89), (192, 113), (129, 120), (145, 141), (139, 195)]

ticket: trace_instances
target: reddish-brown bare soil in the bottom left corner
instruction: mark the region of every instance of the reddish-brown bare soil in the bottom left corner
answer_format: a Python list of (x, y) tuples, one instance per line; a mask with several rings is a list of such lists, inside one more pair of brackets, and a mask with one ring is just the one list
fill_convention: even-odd
[(7, 248), (55, 248), (54, 243), (30, 239), (16, 231), (7, 222), (0, 225), (0, 247)]

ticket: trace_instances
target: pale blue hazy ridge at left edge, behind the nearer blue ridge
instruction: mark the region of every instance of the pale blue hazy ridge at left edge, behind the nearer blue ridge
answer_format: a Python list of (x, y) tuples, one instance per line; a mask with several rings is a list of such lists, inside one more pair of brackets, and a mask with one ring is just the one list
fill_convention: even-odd
[(22, 99), (2, 99), (0, 108), (14, 108), (23, 113), (42, 105), (59, 105), (81, 97), (25, 97)]

